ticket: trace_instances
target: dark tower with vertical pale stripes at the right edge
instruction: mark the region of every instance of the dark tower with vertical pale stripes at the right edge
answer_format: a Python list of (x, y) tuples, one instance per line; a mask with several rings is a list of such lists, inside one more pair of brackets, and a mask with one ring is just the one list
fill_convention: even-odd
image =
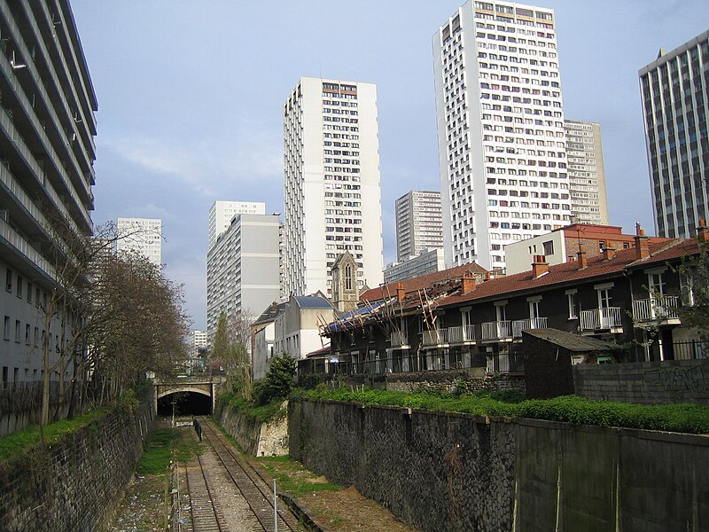
[(709, 217), (709, 31), (640, 70), (658, 236), (687, 238)]

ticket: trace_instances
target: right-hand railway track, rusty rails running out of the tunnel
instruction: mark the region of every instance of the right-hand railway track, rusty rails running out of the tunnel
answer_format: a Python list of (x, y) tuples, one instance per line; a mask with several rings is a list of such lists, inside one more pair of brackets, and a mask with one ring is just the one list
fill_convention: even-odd
[[(203, 440), (214, 450), (220, 464), (229, 474), (230, 479), (236, 484), (246, 503), (251, 508), (253, 515), (267, 532), (275, 532), (276, 522), (273, 511), (273, 490), (269, 483), (265, 481), (253, 467), (242, 458), (233, 448), (230, 442), (210, 421), (201, 419)], [(296, 532), (298, 519), (285, 505), (277, 505), (277, 529), (278, 531)], [(221, 529), (221, 528), (220, 528)], [(211, 530), (211, 528), (205, 528)], [(201, 532), (201, 528), (195, 528), (195, 532)]]

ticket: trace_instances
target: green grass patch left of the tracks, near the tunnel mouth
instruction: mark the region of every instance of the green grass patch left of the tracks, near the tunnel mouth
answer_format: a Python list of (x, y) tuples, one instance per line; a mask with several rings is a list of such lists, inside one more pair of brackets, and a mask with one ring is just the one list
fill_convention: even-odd
[(136, 465), (138, 474), (164, 473), (175, 458), (187, 462), (195, 455), (201, 454), (203, 446), (191, 438), (191, 434), (175, 428), (158, 428), (145, 439), (143, 455)]

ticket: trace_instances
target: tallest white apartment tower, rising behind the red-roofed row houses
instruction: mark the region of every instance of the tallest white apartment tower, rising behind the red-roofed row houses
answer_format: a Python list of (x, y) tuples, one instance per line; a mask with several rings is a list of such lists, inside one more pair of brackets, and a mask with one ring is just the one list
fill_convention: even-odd
[(468, 1), (432, 42), (446, 264), (504, 268), (569, 223), (554, 12)]

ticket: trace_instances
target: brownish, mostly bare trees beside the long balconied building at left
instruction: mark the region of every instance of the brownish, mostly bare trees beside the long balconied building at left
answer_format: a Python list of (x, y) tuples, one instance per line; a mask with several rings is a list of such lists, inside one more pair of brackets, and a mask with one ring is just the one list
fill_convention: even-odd
[(72, 415), (77, 387), (90, 380), (101, 385), (105, 400), (144, 379), (146, 370), (172, 369), (175, 358), (184, 355), (189, 325), (182, 287), (142, 256), (117, 256), (121, 235), (113, 224), (92, 236), (64, 215), (53, 212), (45, 218), (51, 288), (37, 301), (43, 322), (42, 435), (52, 373), (58, 372), (63, 392), (64, 375), (72, 369)]

